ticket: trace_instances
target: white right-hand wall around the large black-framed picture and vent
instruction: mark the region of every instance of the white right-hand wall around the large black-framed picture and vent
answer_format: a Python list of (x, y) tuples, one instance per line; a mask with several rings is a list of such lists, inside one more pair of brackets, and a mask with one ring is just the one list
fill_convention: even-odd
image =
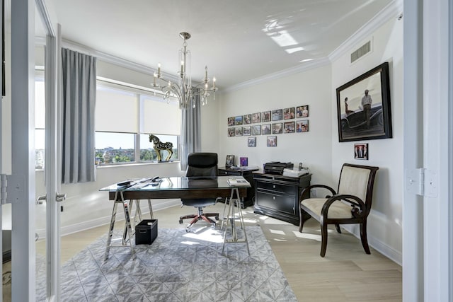
[[(363, 42), (373, 40), (373, 50), (353, 64), (350, 53)], [(363, 140), (369, 144), (367, 165), (377, 165), (379, 171), (374, 184), (372, 212), (369, 215), (367, 233), (369, 244), (401, 264), (402, 259), (402, 200), (403, 200), (403, 22), (396, 18), (369, 35), (363, 42), (346, 51), (332, 63), (331, 98), (336, 98), (336, 88), (355, 79), (369, 69), (389, 62), (392, 139)], [(332, 115), (337, 108), (333, 103)], [(353, 163), (353, 146), (357, 141), (338, 142), (337, 124), (332, 124), (332, 171), (338, 175), (343, 163)], [(357, 226), (350, 228), (356, 236)]]

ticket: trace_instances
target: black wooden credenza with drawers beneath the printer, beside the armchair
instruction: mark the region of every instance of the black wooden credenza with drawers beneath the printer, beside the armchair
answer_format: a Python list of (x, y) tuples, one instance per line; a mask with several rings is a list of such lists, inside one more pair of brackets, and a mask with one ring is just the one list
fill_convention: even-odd
[[(299, 200), (310, 185), (311, 174), (290, 177), (253, 173), (255, 204), (253, 211), (299, 225)], [(306, 193), (309, 197), (309, 192)]]

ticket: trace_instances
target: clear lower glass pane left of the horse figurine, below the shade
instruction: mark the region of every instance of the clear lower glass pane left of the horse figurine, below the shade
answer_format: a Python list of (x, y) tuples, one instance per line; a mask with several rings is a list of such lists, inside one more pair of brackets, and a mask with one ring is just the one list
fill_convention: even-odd
[(134, 134), (96, 132), (96, 165), (134, 161)]

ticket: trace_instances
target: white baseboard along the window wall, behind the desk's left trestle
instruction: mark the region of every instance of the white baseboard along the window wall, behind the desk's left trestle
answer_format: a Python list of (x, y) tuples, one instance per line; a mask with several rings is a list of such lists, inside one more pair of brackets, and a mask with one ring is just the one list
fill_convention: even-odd
[[(180, 199), (168, 199), (165, 202), (160, 202), (159, 204), (153, 204), (153, 211), (159, 211), (162, 209), (168, 209), (170, 207), (180, 206)], [(142, 211), (143, 215), (149, 214), (149, 211)], [(121, 221), (125, 219), (124, 213), (122, 211), (117, 212), (116, 220)], [(60, 236), (69, 235), (72, 233), (77, 233), (81, 231), (86, 231), (90, 228), (97, 228), (98, 226), (104, 226), (105, 224), (110, 223), (110, 216), (99, 217), (98, 219), (92, 219), (90, 221), (84, 221), (81, 223), (71, 224), (70, 226), (63, 226), (60, 228)], [(38, 236), (41, 239), (46, 237), (45, 229), (36, 230)]]

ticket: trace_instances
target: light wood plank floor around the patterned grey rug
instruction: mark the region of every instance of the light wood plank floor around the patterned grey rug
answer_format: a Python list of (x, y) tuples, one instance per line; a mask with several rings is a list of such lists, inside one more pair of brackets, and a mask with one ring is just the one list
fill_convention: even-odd
[[(222, 217), (224, 204), (210, 207)], [(184, 228), (180, 215), (195, 213), (195, 208), (172, 207), (156, 211), (159, 228)], [(330, 229), (326, 257), (319, 256), (321, 233), (319, 224), (310, 219), (304, 233), (298, 227), (268, 216), (253, 214), (253, 208), (243, 210), (246, 224), (260, 225), (299, 301), (402, 301), (402, 268), (379, 252), (365, 254), (360, 240), (346, 231), (338, 234)], [(147, 219), (147, 217), (145, 217)], [(202, 221), (198, 223), (204, 223)], [(124, 226), (120, 221), (115, 228)], [(196, 226), (196, 225), (195, 225)], [(105, 236), (108, 226), (62, 237), (62, 263), (76, 255), (96, 238)], [(37, 243), (43, 253), (45, 243)]]

